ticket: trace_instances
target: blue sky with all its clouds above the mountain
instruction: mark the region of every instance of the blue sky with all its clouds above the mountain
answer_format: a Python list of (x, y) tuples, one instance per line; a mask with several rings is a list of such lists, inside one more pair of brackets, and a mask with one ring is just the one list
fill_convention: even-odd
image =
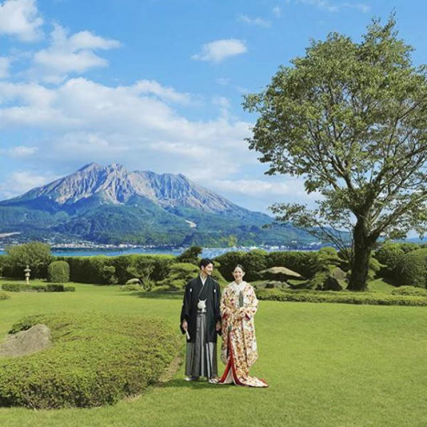
[(312, 204), (265, 176), (241, 107), (331, 31), (359, 41), (396, 11), (426, 63), (427, 2), (0, 0), (0, 199), (89, 162), (182, 173), (248, 209)]

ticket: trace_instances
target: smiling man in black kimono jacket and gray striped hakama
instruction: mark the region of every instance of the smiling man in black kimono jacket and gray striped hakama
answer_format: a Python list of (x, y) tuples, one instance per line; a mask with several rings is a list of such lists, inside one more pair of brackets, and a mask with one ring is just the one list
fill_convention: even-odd
[(186, 381), (206, 376), (214, 382), (218, 376), (216, 335), (221, 333), (219, 285), (211, 278), (214, 263), (200, 261), (199, 275), (186, 284), (181, 309), (181, 332), (186, 334)]

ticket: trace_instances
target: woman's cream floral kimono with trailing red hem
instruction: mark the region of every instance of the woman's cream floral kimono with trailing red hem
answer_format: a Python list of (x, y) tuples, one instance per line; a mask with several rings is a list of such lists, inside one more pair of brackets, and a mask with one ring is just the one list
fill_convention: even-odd
[(255, 376), (249, 376), (249, 368), (258, 359), (253, 316), (258, 300), (253, 287), (246, 282), (226, 287), (221, 297), (222, 347), (221, 360), (226, 370), (220, 384), (267, 387), (268, 384)]

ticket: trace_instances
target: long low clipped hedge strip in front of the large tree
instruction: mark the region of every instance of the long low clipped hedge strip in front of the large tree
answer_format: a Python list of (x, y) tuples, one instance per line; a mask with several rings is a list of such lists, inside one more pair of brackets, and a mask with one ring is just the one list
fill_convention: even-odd
[(257, 296), (260, 300), (273, 301), (340, 302), (342, 304), (427, 306), (427, 297), (384, 294), (380, 295), (374, 292), (263, 289), (257, 291)]

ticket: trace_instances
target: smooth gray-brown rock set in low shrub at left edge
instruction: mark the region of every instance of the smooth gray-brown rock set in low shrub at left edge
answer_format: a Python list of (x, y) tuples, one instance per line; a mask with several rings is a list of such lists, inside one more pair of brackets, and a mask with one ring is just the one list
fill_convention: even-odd
[(40, 352), (52, 343), (51, 330), (46, 325), (34, 325), (29, 330), (8, 335), (0, 344), (0, 356), (23, 356)]

